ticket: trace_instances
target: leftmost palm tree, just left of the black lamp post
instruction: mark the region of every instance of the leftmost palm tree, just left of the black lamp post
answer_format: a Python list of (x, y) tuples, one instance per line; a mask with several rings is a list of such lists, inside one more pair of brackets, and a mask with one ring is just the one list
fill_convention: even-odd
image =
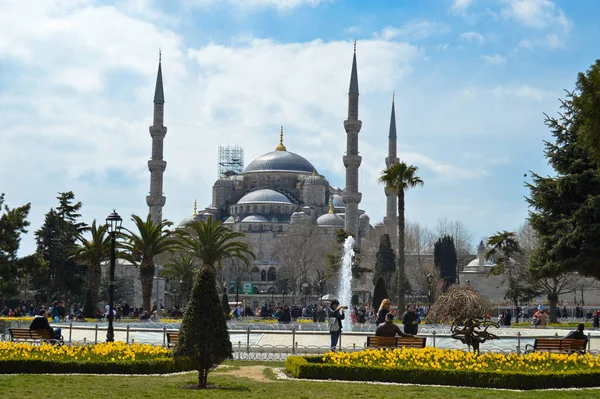
[(96, 306), (98, 304), (98, 290), (102, 279), (102, 262), (110, 258), (110, 243), (111, 237), (107, 234), (107, 225), (101, 224), (98, 226), (96, 220), (92, 222), (92, 226), (84, 231), (91, 233), (91, 238), (88, 240), (81, 234), (77, 236), (77, 240), (81, 243), (75, 249), (74, 258), (77, 262), (88, 265), (88, 289), (90, 291), (90, 304), (86, 306), (86, 317), (94, 317)]

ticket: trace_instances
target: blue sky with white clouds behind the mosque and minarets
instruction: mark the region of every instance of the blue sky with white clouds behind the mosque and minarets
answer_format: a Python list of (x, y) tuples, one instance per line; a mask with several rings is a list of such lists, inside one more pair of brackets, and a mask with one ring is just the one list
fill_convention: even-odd
[[(419, 168), (411, 221), (463, 222), (473, 238), (527, 218), (529, 171), (552, 170), (544, 113), (600, 57), (596, 0), (0, 0), (0, 192), (31, 203), (20, 254), (57, 206), (82, 221), (146, 215), (162, 52), (163, 216), (203, 209), (219, 145), (245, 165), (288, 151), (344, 187), (343, 121), (356, 40), (360, 208), (375, 225), (392, 93), (398, 155)], [(528, 176), (524, 176), (528, 174)]]

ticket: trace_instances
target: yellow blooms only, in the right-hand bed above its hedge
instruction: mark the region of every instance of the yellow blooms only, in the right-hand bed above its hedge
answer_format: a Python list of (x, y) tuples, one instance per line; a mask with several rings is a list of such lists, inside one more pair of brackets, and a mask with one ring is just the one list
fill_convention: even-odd
[(483, 353), (476, 355), (455, 349), (399, 348), (361, 352), (328, 352), (324, 363), (349, 366), (382, 366), (399, 369), (467, 371), (521, 371), (528, 373), (561, 371), (600, 371), (600, 357), (590, 354), (559, 354), (535, 352), (526, 355)]

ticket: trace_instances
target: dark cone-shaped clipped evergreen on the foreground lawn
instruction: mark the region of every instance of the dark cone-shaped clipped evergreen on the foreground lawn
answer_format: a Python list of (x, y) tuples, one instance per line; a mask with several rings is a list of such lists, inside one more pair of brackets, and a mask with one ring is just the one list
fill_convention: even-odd
[(198, 386), (206, 388), (208, 373), (233, 357), (223, 305), (215, 285), (214, 266), (202, 266), (183, 316), (175, 356), (190, 358), (198, 368)]

